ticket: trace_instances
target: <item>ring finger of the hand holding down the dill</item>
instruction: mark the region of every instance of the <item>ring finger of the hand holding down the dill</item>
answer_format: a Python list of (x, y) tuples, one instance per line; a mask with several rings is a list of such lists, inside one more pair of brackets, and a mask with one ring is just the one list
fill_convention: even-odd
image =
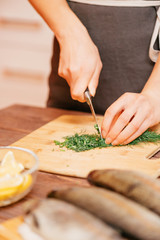
[(113, 145), (123, 144), (127, 139), (133, 136), (139, 131), (141, 125), (145, 122), (146, 115), (142, 112), (137, 112), (128, 125), (118, 134), (118, 136), (112, 141)]

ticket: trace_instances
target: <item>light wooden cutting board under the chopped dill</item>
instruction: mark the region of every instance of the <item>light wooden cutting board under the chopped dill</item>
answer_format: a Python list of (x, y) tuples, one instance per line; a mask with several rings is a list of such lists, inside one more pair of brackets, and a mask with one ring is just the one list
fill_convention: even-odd
[[(99, 117), (99, 122), (102, 117)], [(160, 125), (157, 126), (160, 132)], [(129, 169), (144, 172), (153, 177), (160, 175), (160, 159), (149, 159), (160, 144), (145, 143), (136, 146), (108, 147), (86, 152), (62, 151), (54, 140), (75, 133), (94, 133), (92, 116), (63, 115), (42, 126), (13, 146), (33, 150), (39, 157), (39, 169), (76, 177), (86, 177), (93, 169)]]

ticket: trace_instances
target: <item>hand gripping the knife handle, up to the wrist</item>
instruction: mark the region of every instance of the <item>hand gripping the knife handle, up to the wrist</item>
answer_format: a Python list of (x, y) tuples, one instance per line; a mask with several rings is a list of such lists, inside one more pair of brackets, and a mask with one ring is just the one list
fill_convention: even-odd
[(61, 39), (58, 74), (70, 86), (71, 97), (84, 102), (84, 91), (95, 95), (102, 62), (99, 51), (86, 28), (78, 22)]

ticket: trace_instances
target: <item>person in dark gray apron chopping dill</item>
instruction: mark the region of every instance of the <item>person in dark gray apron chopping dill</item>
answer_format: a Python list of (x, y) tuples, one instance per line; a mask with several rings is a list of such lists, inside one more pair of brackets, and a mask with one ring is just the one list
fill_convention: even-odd
[(160, 122), (160, 56), (155, 66), (148, 56), (160, 1), (30, 2), (56, 37), (48, 106), (88, 111), (88, 87), (96, 112), (106, 110), (102, 135), (113, 145)]

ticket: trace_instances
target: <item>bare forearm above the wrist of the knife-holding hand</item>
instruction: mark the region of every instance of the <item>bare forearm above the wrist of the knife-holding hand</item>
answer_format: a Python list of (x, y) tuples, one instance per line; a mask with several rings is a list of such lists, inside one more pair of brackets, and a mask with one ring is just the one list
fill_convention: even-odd
[(29, 2), (45, 20), (59, 41), (72, 34), (73, 31), (77, 31), (77, 26), (84, 28), (66, 0), (29, 0)]

